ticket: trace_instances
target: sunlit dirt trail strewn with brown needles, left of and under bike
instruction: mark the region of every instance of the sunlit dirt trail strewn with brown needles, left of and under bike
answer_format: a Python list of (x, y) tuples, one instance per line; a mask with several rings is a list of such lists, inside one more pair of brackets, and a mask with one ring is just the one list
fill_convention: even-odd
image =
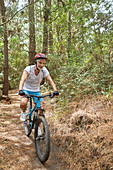
[(62, 167), (57, 159), (58, 148), (51, 144), (51, 155), (42, 165), (36, 155), (33, 132), (30, 138), (24, 133), (20, 121), (17, 91), (9, 94), (11, 104), (0, 103), (0, 170), (46, 170)]

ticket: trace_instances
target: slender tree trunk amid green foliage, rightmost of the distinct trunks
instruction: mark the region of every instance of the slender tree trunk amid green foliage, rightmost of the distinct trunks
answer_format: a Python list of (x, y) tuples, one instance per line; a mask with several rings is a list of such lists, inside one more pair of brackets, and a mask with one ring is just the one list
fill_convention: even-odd
[(70, 50), (71, 50), (71, 11), (68, 13), (68, 39), (67, 39), (67, 53), (70, 58)]

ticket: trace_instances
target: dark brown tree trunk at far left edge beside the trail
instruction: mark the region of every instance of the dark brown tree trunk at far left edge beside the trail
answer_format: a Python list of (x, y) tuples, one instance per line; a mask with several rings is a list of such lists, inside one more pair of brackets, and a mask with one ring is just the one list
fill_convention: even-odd
[[(6, 22), (5, 4), (4, 0), (0, 0), (2, 22)], [(4, 80), (3, 80), (3, 95), (8, 95), (8, 40), (7, 40), (7, 26), (4, 24)]]

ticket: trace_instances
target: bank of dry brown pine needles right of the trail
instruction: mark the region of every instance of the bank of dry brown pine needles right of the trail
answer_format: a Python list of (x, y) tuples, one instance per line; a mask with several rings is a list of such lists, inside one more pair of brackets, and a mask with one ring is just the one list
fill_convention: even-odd
[(52, 140), (64, 167), (112, 169), (113, 97), (90, 96), (68, 107), (68, 114), (56, 111), (50, 117)]

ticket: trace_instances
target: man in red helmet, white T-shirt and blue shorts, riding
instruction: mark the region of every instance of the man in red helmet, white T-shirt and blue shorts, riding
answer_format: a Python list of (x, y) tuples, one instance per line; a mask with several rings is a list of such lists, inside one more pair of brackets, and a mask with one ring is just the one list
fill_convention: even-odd
[[(35, 65), (27, 66), (22, 74), (21, 81), (19, 84), (19, 95), (22, 96), (20, 101), (20, 108), (22, 110), (20, 120), (25, 121), (26, 119), (26, 107), (28, 99), (24, 97), (25, 94), (32, 94), (40, 96), (40, 83), (42, 79), (45, 77), (51, 87), (53, 88), (53, 95), (59, 95), (56, 86), (49, 74), (49, 71), (44, 67), (46, 63), (47, 57), (45, 54), (38, 53), (35, 56)], [(36, 103), (37, 98), (33, 98), (34, 103)], [(38, 102), (38, 107), (41, 107), (41, 109), (44, 109), (44, 101), (41, 98)]]

